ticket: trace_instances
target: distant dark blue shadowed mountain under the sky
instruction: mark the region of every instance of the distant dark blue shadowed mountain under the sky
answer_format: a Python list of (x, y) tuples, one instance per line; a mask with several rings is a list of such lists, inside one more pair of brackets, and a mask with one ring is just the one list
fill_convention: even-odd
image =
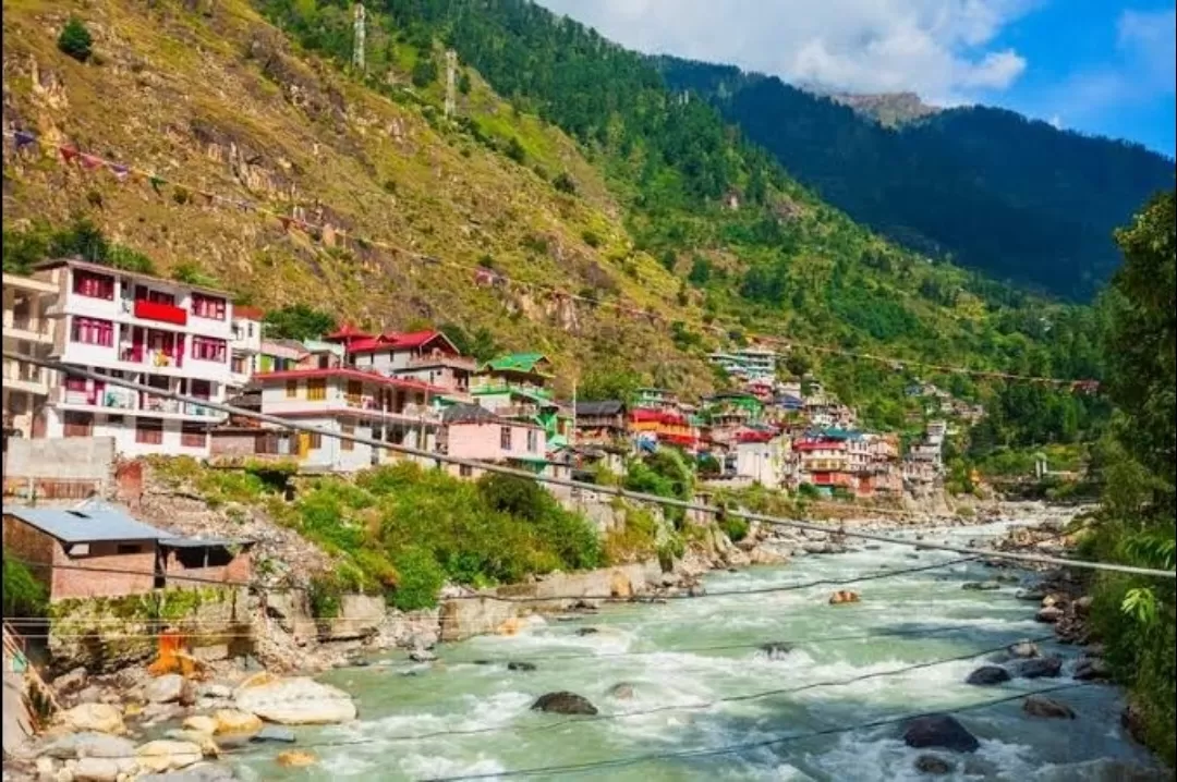
[(852, 108), (730, 66), (654, 62), (671, 88), (704, 96), (856, 220), (1058, 296), (1090, 298), (1119, 262), (1112, 229), (1173, 185), (1163, 155), (1004, 109), (945, 109), (886, 127), (859, 113), (882, 111), (869, 99)]

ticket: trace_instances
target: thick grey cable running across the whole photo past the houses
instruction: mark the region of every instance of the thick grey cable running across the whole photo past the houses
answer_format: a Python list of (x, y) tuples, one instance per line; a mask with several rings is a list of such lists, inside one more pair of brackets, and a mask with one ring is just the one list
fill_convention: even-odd
[(842, 535), (845, 537), (857, 537), (860, 540), (876, 541), (879, 543), (891, 543), (896, 546), (909, 546), (942, 552), (951, 552), (955, 554), (967, 554), (986, 559), (997, 560), (1010, 560), (1012, 562), (1028, 562), (1033, 564), (1053, 564), (1058, 567), (1072, 567), (1086, 570), (1105, 570), (1111, 573), (1125, 573), (1131, 575), (1143, 575), (1143, 576), (1155, 576), (1159, 579), (1177, 579), (1177, 572), (1175, 570), (1159, 570), (1153, 568), (1141, 568), (1128, 564), (1117, 564), (1111, 562), (1088, 562), (1082, 560), (1069, 560), (1057, 556), (1046, 556), (1042, 554), (1018, 554), (1011, 552), (989, 552), (984, 549), (963, 547), (963, 546), (950, 546), (946, 543), (930, 543), (926, 541), (907, 541), (898, 537), (891, 537), (887, 535), (879, 535), (876, 533), (859, 532), (852, 529), (834, 528), (826, 524), (816, 524), (804, 521), (793, 521), (786, 519), (779, 519), (776, 516), (769, 516), (759, 513), (750, 513), (746, 510), (727, 510), (724, 508), (716, 508), (713, 506), (691, 502), (686, 500), (678, 500), (674, 497), (663, 497), (654, 494), (646, 494), (643, 492), (631, 492), (616, 486), (598, 486), (596, 483), (585, 483), (583, 481), (576, 481), (571, 479), (554, 477), (551, 475), (537, 475), (527, 470), (514, 469), (511, 467), (503, 467), (500, 464), (493, 464), (490, 462), (483, 462), (472, 459), (461, 459), (458, 456), (451, 456), (448, 454), (438, 454), (420, 448), (414, 448), (411, 446), (392, 443), (384, 440), (375, 440), (373, 437), (365, 437), (363, 435), (346, 434), (343, 432), (332, 432), (318, 426), (312, 426), (308, 423), (302, 423), (300, 421), (291, 421), (288, 419), (282, 419), (277, 415), (270, 415), (267, 413), (258, 413), (254, 410), (247, 410), (239, 407), (233, 407), (224, 402), (215, 402), (207, 399), (198, 399), (195, 396), (188, 396), (186, 394), (178, 394), (174, 392), (165, 392), (152, 386), (144, 383), (137, 383), (122, 377), (114, 377), (112, 375), (105, 375), (97, 373), (92, 369), (85, 369), (81, 367), (75, 367), (72, 365), (61, 363), (60, 361), (52, 361), (48, 359), (38, 359), (34, 356), (25, 355), (15, 350), (4, 350), (4, 356), (7, 359), (13, 359), (16, 361), (25, 361), (34, 366), (45, 367), (48, 369), (54, 369), (58, 372), (64, 372), (66, 374), (78, 375), (81, 377), (87, 377), (89, 380), (102, 381), (114, 386), (121, 386), (125, 388), (131, 388), (134, 390), (140, 390), (145, 394), (158, 396), (161, 399), (171, 399), (180, 402), (186, 402), (189, 405), (201, 405), (208, 409), (219, 410), (222, 413), (230, 413), (233, 415), (239, 415), (241, 417), (252, 417), (258, 421), (265, 421), (267, 423), (273, 423), (275, 426), (293, 429), (295, 432), (308, 432), (312, 434), (319, 434), (321, 436), (334, 437), (337, 440), (344, 440), (347, 442), (355, 442), (360, 445), (368, 446), (371, 448), (383, 448), (386, 450), (392, 450), (394, 453), (401, 453), (408, 456), (415, 456), (420, 460), (432, 460), (434, 463), (450, 463), (457, 464), (459, 467), (470, 467), (471, 469), (479, 469), (487, 473), (497, 473), (500, 475), (511, 475), (514, 477), (521, 477), (528, 481), (537, 481), (540, 483), (548, 483), (552, 486), (563, 486), (566, 488), (585, 489), (594, 492), (597, 494), (612, 494), (627, 500), (634, 500), (638, 502), (649, 502), (653, 504), (661, 504), (673, 508), (681, 508), (684, 510), (693, 510), (697, 513), (706, 514), (726, 514), (730, 516), (736, 516), (739, 519), (745, 519), (747, 521), (758, 521), (760, 523), (771, 524), (776, 527), (791, 527), (794, 529), (803, 529), (806, 532), (822, 533), (825, 535)]

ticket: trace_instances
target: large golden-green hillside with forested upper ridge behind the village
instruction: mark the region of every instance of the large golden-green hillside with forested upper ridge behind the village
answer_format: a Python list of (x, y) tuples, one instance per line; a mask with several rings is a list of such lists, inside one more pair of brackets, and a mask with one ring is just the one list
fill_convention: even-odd
[[(112, 262), (267, 309), (457, 323), (548, 353), (568, 381), (687, 394), (717, 383), (707, 350), (778, 334), (817, 346), (794, 369), (819, 365), (890, 425), (907, 361), (1098, 373), (1090, 310), (864, 229), (645, 56), (530, 2), (372, 4), (363, 71), (346, 2), (111, 0), (81, 19), (84, 62), (60, 51), (58, 5), (5, 8), (5, 125), (41, 140), (5, 145), (6, 268), (100, 239)], [(59, 145), (157, 179), (54, 162)]]

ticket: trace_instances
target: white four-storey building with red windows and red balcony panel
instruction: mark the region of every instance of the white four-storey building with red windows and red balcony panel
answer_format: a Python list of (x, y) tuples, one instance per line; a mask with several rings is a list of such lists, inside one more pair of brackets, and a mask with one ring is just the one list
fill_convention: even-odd
[[(222, 402), (233, 381), (230, 295), (80, 260), (48, 261), (35, 278), (56, 287), (52, 354), (64, 363), (165, 392)], [(59, 373), (49, 437), (112, 436), (119, 454), (208, 455), (208, 428), (224, 420), (202, 405)]]

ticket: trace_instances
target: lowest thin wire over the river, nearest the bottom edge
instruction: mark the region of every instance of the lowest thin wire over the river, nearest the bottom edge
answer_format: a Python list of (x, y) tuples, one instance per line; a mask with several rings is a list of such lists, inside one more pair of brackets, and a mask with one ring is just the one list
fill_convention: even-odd
[(793, 734), (789, 736), (779, 736), (776, 738), (766, 738), (763, 741), (747, 742), (742, 744), (726, 744), (723, 747), (716, 747), (713, 749), (687, 749), (674, 753), (651, 753), (646, 755), (633, 755), (630, 757), (617, 757), (607, 761), (596, 761), (587, 763), (567, 763), (563, 766), (543, 766), (525, 769), (514, 769), (507, 771), (494, 771), (487, 774), (464, 774), (457, 776), (439, 776), (430, 777), (423, 780), (421, 782), (472, 782), (473, 780), (497, 780), (501, 777), (513, 777), (513, 776), (539, 776), (539, 775), (557, 775), (557, 774), (573, 774), (577, 771), (596, 771), (601, 769), (621, 768), (626, 766), (637, 766), (639, 763), (646, 763), (650, 761), (658, 760), (683, 760), (692, 757), (714, 757), (719, 755), (736, 755), (745, 753), (752, 749), (765, 749), (769, 747), (776, 747), (780, 744), (792, 743), (794, 741), (804, 741), (806, 738), (817, 738), (822, 736), (834, 736), (839, 734), (855, 733), (857, 730), (869, 730), (871, 728), (882, 728), (886, 726), (898, 724), (900, 722), (907, 722), (909, 720), (918, 720), (920, 717), (930, 717), (943, 714), (960, 714), (964, 711), (976, 711), (979, 709), (986, 709), (993, 706), (999, 706), (1002, 703), (1009, 703), (1011, 701), (1017, 701), (1019, 699), (1026, 697), (1028, 695), (1040, 695), (1045, 693), (1057, 693), (1060, 690), (1077, 689), (1079, 687), (1091, 687), (1091, 684), (1075, 683), (1075, 684), (1060, 684), (1058, 687), (1048, 687), (1033, 691), (1020, 691), (1005, 697), (992, 699), (984, 701), (982, 703), (973, 703), (971, 706), (962, 706), (956, 709), (940, 710), (940, 711), (922, 711), (918, 714), (905, 714), (898, 717), (886, 717), (882, 720), (873, 720), (871, 722), (860, 722), (858, 724), (847, 726), (843, 728), (827, 728), (824, 730), (811, 730), (809, 733)]

